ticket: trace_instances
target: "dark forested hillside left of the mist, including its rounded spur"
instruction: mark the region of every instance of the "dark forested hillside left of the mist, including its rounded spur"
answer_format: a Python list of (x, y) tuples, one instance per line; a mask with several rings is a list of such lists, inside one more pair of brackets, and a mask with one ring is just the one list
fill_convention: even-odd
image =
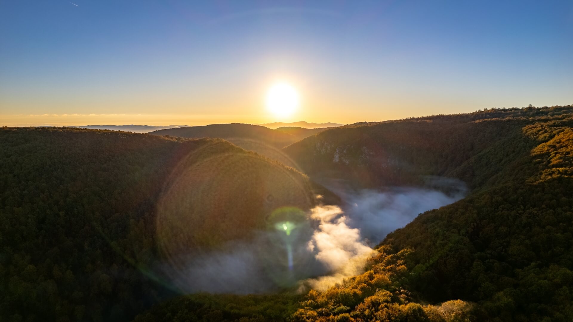
[(156, 264), (314, 203), (305, 175), (220, 139), (0, 128), (0, 160), (2, 321), (129, 320), (177, 292)]

